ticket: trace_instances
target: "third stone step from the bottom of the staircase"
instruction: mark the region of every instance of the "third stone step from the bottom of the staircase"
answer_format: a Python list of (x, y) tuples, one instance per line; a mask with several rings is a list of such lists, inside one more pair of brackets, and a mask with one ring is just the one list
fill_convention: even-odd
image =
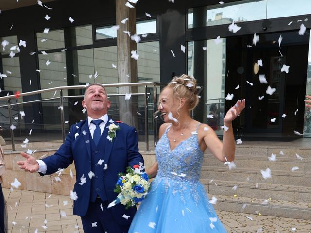
[(230, 171), (227, 166), (202, 166), (201, 178), (236, 182), (247, 181), (251, 183), (311, 186), (311, 172), (272, 170), (272, 177), (269, 179), (263, 179), (260, 170), (266, 170), (266, 168), (267, 167), (262, 167), (261, 169), (235, 168)]

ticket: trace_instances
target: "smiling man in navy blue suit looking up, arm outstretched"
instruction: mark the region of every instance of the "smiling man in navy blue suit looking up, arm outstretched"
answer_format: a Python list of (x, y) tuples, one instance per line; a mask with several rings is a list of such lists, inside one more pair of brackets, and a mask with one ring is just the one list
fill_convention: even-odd
[(81, 216), (84, 232), (126, 233), (136, 207), (126, 210), (121, 204), (109, 209), (107, 206), (116, 199), (113, 190), (118, 173), (143, 162), (138, 152), (138, 133), (135, 128), (108, 117), (110, 101), (101, 84), (86, 87), (82, 106), (87, 110), (87, 119), (71, 126), (64, 144), (54, 155), (36, 160), (21, 152), (26, 160), (17, 164), (25, 171), (38, 171), (43, 176), (74, 161), (77, 181), (73, 192), (78, 198), (73, 202), (73, 214)]

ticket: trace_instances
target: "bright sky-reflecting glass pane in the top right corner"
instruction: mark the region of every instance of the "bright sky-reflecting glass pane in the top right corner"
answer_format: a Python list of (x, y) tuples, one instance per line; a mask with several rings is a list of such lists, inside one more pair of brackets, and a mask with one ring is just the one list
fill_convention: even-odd
[[(267, 18), (299, 16), (311, 14), (310, 0), (268, 0)], [(302, 18), (303, 19), (303, 18)]]

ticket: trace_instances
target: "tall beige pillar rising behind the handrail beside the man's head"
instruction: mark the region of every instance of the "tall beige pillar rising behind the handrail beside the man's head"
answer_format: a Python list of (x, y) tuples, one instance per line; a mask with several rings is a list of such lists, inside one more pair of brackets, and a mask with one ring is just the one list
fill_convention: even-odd
[[(116, 0), (116, 23), (120, 25), (117, 30), (118, 51), (118, 78), (119, 83), (134, 83), (137, 79), (137, 60), (131, 58), (131, 51), (136, 49), (136, 42), (123, 31), (136, 34), (136, 8), (125, 6), (127, 0)], [(133, 4), (135, 7), (136, 5)], [(128, 18), (125, 24), (121, 20)], [(138, 87), (120, 87), (119, 93), (137, 93)], [(120, 120), (138, 129), (138, 97), (132, 96), (125, 101), (125, 97), (119, 98)]]

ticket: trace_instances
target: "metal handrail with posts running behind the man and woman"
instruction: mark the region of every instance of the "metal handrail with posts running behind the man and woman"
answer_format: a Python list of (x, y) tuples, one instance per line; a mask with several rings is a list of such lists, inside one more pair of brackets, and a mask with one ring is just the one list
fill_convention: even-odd
[[(164, 86), (162, 83), (157, 83), (157, 82), (141, 82), (141, 83), (109, 83), (109, 84), (103, 84), (104, 87), (123, 87), (123, 86), (144, 86), (145, 87), (145, 92), (144, 93), (133, 93), (132, 95), (144, 95), (145, 100), (145, 143), (146, 143), (146, 150), (149, 150), (149, 129), (148, 129), (148, 97), (150, 96), (150, 93), (147, 92), (147, 86), (153, 86), (154, 89), (154, 95), (153, 95), (153, 108), (154, 112), (156, 111), (156, 102), (157, 102), (157, 94), (156, 94), (156, 86)], [(12, 125), (12, 113), (11, 113), (11, 107), (13, 105), (20, 105), (20, 104), (26, 104), (26, 103), (34, 103), (34, 102), (40, 102), (40, 101), (45, 101), (45, 100), (56, 100), (59, 99), (60, 101), (60, 110), (61, 110), (61, 125), (62, 125), (62, 137), (63, 137), (63, 142), (65, 141), (65, 117), (64, 117), (64, 98), (72, 98), (72, 97), (83, 97), (83, 96), (63, 96), (63, 90), (76, 90), (76, 89), (83, 89), (86, 88), (87, 85), (75, 85), (75, 86), (59, 86), (59, 87), (52, 87), (52, 88), (47, 88), (47, 89), (41, 89), (37, 91), (30, 91), (30, 92), (25, 92), (25, 93), (19, 93), (18, 97), (16, 94), (14, 95), (9, 95), (9, 96), (3, 96), (0, 97), (0, 100), (7, 100), (8, 104), (7, 105), (2, 105), (0, 107), (8, 107), (8, 113), (9, 113), (9, 122), (10, 125)], [(35, 94), (41, 94), (41, 93), (46, 93), (46, 92), (52, 92), (52, 91), (60, 91), (60, 97), (55, 97), (55, 98), (48, 98), (48, 99), (43, 99), (43, 100), (32, 100), (32, 101), (27, 101), (27, 102), (21, 102), (21, 103), (15, 103), (11, 104), (11, 99), (13, 98), (19, 98), (19, 97), (24, 97), (24, 96), (30, 96), (30, 95), (35, 95)], [(120, 94), (108, 94), (108, 96), (124, 96), (124, 93)], [(156, 136), (156, 126), (155, 126), (155, 135), (154, 135), (154, 141), (156, 144), (157, 136)], [(10, 128), (10, 134), (11, 134), (11, 142), (12, 142), (12, 150), (15, 151), (15, 143), (14, 143), (14, 133), (13, 129)]]

